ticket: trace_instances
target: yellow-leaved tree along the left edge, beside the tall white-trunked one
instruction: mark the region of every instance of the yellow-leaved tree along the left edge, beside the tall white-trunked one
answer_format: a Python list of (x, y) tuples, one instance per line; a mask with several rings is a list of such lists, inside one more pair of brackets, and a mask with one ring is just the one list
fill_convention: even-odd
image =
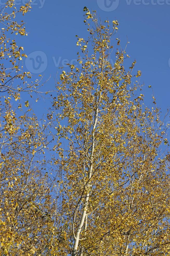
[(29, 99), (39, 88), (38, 79), (24, 71), (27, 55), (14, 39), (27, 36), (18, 16), (29, 8), (29, 1), (17, 9), (11, 0), (0, 15), (0, 255), (50, 255), (58, 223), (45, 157), (53, 136), (48, 122), (22, 100), (22, 93)]

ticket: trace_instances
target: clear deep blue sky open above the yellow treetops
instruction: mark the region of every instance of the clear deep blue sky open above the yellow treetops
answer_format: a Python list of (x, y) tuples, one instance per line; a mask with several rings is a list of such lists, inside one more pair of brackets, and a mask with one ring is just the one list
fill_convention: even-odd
[[(77, 57), (75, 35), (86, 37), (84, 6), (96, 10), (103, 21), (107, 18), (110, 22), (119, 21), (121, 46), (126, 44), (128, 37), (127, 54), (132, 62), (136, 59), (136, 68), (142, 71), (140, 81), (145, 84), (145, 103), (150, 106), (152, 90), (148, 85), (152, 85), (157, 107), (165, 113), (170, 106), (170, 0), (32, 0), (32, 10), (24, 16), (28, 37), (21, 39), (25, 53), (34, 59), (27, 60), (26, 67), (44, 74), (45, 78), (51, 75), (47, 86), (54, 89), (53, 77), (60, 72), (57, 66), (64, 66), (64, 59), (74, 61)], [(41, 56), (37, 61), (44, 62), (39, 68), (37, 55)], [(37, 107), (37, 111), (39, 109), (42, 113), (42, 108)], [(165, 123), (170, 123), (169, 116)]]

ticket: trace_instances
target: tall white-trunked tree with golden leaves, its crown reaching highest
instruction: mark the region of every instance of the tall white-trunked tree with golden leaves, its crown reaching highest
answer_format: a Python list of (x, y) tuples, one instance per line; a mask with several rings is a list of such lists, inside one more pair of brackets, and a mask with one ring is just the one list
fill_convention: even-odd
[(84, 11), (80, 67), (62, 68), (51, 114), (67, 241), (60, 255), (168, 255), (166, 128), (154, 96), (151, 108), (143, 103), (136, 61), (123, 66), (129, 56), (116, 38), (118, 21), (103, 24)]

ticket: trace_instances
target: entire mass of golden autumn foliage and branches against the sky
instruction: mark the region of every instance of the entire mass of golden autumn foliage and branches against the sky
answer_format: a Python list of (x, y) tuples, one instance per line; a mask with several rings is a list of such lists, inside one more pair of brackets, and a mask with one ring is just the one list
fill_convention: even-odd
[(21, 98), (37, 94), (41, 80), (28, 84), (27, 55), (8, 38), (8, 30), (26, 35), (15, 15), (30, 3), (13, 3), (1, 10), (0, 255), (168, 255), (166, 129), (155, 98), (151, 109), (143, 104), (136, 61), (123, 66), (118, 21), (102, 23), (84, 7), (80, 68), (61, 68), (40, 125)]

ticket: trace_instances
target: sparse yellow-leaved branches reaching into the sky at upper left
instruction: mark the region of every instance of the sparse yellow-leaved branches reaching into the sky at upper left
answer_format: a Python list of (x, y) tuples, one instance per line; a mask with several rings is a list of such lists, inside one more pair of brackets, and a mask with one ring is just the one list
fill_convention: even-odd
[[(1, 7), (0, 22), (0, 92), (8, 92), (17, 101), (21, 91), (36, 92), (39, 88), (38, 79), (30, 81), (31, 74), (23, 70), (23, 61), (27, 58), (23, 46), (18, 46), (16, 35), (27, 36), (24, 21), (18, 23), (20, 14), (27, 13), (31, 6), (28, 1), (19, 9), (15, 7), (15, 0), (7, 1)], [(15, 34), (15, 37), (11, 34)]]

